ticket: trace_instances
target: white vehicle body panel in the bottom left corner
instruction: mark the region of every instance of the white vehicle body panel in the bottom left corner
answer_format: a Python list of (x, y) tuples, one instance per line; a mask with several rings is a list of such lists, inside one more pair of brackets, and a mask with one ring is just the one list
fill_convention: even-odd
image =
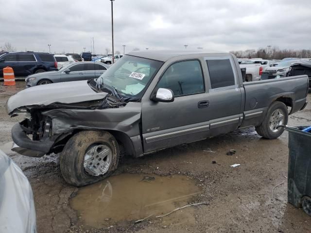
[(36, 233), (35, 204), (22, 170), (0, 150), (0, 233)]

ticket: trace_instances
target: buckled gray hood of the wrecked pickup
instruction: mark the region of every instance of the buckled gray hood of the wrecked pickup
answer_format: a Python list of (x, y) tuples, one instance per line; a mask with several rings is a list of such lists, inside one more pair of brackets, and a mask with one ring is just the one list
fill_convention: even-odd
[(95, 92), (87, 81), (52, 83), (24, 89), (6, 103), (8, 114), (23, 106), (45, 106), (51, 103), (78, 103), (103, 99), (107, 93)]

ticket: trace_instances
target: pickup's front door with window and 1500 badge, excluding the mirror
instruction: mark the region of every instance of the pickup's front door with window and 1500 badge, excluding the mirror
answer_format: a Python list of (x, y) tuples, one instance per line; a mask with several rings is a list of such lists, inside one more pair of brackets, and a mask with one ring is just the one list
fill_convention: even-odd
[(171, 89), (173, 102), (142, 102), (144, 152), (208, 137), (209, 101), (199, 60), (179, 61), (166, 69), (155, 90)]

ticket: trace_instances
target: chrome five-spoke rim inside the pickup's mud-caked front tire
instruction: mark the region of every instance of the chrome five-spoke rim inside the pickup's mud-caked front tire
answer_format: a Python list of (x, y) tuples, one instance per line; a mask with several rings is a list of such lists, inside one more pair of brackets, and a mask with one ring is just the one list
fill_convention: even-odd
[(86, 150), (83, 166), (91, 176), (104, 175), (112, 161), (112, 151), (106, 145), (92, 145)]

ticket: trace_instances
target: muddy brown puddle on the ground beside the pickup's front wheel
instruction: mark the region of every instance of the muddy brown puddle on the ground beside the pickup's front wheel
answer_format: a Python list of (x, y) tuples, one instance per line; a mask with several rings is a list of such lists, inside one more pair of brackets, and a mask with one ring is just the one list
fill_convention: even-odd
[[(69, 204), (84, 228), (126, 226), (147, 216), (147, 221), (152, 221), (155, 216), (188, 204), (200, 192), (196, 181), (187, 176), (121, 174), (80, 188)], [(193, 212), (193, 207), (189, 207), (162, 221), (165, 225), (191, 225), (195, 223)]]

